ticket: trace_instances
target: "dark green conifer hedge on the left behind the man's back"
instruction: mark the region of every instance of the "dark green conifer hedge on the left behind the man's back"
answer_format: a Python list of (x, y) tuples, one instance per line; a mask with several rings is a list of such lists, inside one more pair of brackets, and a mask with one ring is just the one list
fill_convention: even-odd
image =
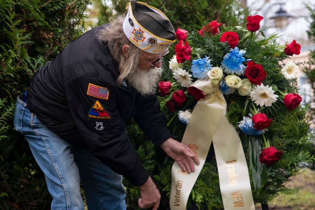
[(89, 0), (0, 1), (0, 209), (49, 209), (43, 173), (13, 130), (15, 101), (33, 73), (84, 31)]

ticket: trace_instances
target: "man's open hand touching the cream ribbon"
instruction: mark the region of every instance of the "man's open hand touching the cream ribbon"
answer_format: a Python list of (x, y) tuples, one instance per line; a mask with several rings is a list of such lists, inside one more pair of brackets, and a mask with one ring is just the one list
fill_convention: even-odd
[(169, 157), (177, 161), (182, 171), (187, 173), (195, 171), (194, 161), (199, 165), (197, 155), (185, 144), (169, 138), (161, 144), (161, 148), (166, 152)]

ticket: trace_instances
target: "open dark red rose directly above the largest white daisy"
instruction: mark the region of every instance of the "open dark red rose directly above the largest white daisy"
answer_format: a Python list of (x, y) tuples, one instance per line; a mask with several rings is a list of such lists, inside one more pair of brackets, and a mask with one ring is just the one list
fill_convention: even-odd
[(267, 73), (260, 64), (255, 64), (253, 61), (248, 61), (244, 75), (252, 84), (260, 85), (262, 80), (265, 79)]

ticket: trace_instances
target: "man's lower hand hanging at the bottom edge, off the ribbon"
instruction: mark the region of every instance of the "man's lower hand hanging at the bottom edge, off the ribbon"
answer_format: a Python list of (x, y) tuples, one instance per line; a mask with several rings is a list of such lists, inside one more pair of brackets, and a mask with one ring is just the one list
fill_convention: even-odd
[(140, 208), (152, 207), (152, 210), (157, 210), (160, 205), (161, 194), (154, 184), (151, 177), (148, 178), (146, 183), (140, 187), (141, 197), (138, 199), (138, 205)]

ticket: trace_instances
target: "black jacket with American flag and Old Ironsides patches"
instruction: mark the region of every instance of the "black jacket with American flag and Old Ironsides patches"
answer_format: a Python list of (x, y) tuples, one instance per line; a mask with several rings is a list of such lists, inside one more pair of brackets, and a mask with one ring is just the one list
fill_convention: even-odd
[(154, 95), (117, 86), (117, 64), (96, 27), (69, 43), (33, 76), (26, 102), (64, 140), (88, 148), (113, 171), (140, 186), (148, 173), (126, 133), (131, 118), (159, 146), (172, 137)]

